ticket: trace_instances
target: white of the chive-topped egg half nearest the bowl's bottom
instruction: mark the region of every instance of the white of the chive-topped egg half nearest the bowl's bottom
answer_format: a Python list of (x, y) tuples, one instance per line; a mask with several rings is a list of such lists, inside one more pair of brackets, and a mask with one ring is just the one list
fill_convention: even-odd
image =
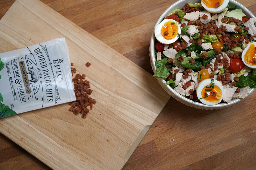
[[(222, 84), (218, 80), (215, 80), (215, 79), (213, 79), (213, 80), (214, 81), (212, 81), (211, 78), (207, 78), (207, 79), (201, 81), (197, 86), (197, 97), (205, 105), (216, 105), (216, 104), (220, 103), (222, 98), (223, 98), (223, 95), (224, 95), (224, 89), (223, 89)], [(205, 99), (200, 99), (202, 97), (205, 97), (205, 96), (202, 96), (202, 90), (205, 88), (205, 86), (208, 86), (209, 84), (211, 84), (211, 82), (214, 83), (214, 86), (218, 86), (220, 88), (221, 92), (222, 92), (221, 99), (218, 102), (215, 102), (215, 103), (214, 102), (209, 102)]]

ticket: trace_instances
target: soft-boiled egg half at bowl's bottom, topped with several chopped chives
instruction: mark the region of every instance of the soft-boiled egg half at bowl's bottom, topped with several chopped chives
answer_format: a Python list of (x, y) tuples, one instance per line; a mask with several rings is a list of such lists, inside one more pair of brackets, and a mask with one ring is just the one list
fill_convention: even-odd
[(206, 105), (216, 105), (223, 98), (223, 86), (215, 79), (207, 78), (201, 81), (197, 86), (197, 97)]

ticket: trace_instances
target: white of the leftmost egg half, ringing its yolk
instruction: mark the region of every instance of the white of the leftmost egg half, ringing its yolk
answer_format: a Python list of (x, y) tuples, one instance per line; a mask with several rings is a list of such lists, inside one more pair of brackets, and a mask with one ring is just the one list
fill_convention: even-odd
[[(165, 39), (163, 36), (162, 36), (162, 33), (161, 33), (161, 30), (162, 30), (162, 26), (166, 23), (166, 22), (174, 22), (177, 27), (178, 27), (178, 33), (177, 35), (173, 38), (173, 39)], [(160, 22), (159, 24), (156, 25), (155, 27), (155, 37), (157, 39), (157, 41), (161, 42), (162, 44), (172, 44), (174, 43), (179, 37), (178, 37), (178, 34), (181, 33), (180, 31), (180, 26), (179, 26), (179, 23), (175, 20), (172, 20), (172, 19), (164, 19), (162, 22)]]

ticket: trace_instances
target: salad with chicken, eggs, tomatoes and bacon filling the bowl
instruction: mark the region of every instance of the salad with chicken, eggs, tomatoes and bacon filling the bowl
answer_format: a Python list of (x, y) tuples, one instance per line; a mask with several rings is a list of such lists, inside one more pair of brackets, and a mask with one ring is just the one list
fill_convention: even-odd
[(153, 77), (206, 105), (245, 98), (256, 88), (256, 18), (228, 0), (174, 9), (154, 29)]

